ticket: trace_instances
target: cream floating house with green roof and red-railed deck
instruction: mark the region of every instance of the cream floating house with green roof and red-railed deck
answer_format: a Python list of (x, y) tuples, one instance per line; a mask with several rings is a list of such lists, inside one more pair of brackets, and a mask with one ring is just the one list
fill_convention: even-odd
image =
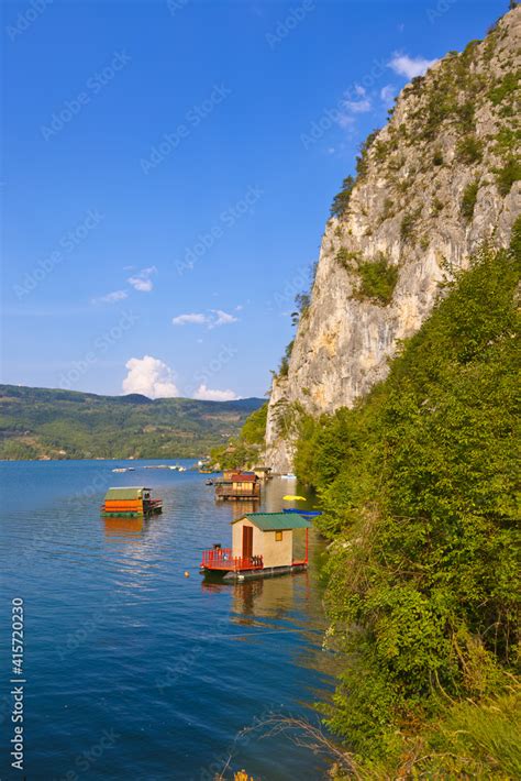
[(232, 520), (232, 548), (203, 551), (201, 572), (244, 580), (306, 570), (310, 528), (293, 513), (247, 513)]

